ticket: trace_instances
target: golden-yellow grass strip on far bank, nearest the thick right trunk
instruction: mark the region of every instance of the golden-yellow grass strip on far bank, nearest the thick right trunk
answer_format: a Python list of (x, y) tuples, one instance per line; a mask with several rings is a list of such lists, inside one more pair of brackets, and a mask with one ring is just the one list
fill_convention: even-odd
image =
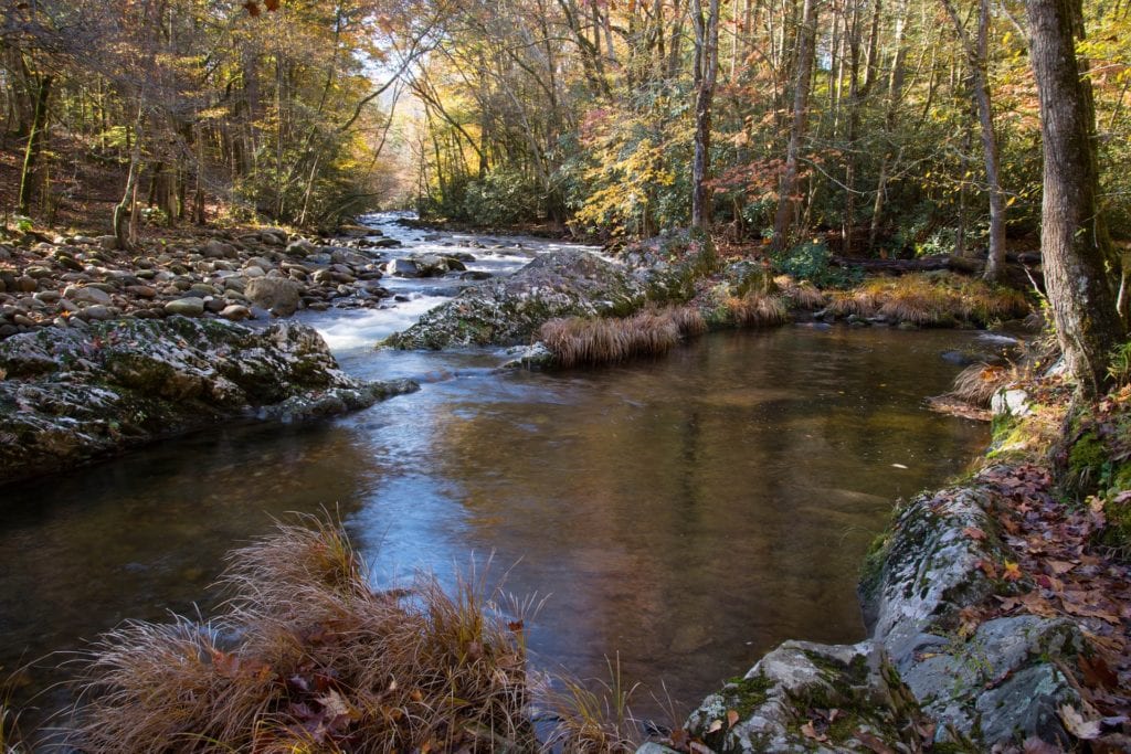
[(1011, 288), (958, 275), (925, 274), (873, 278), (854, 291), (835, 294), (829, 311), (925, 326), (958, 321), (985, 326), (1025, 317), (1030, 306), (1024, 294)]

